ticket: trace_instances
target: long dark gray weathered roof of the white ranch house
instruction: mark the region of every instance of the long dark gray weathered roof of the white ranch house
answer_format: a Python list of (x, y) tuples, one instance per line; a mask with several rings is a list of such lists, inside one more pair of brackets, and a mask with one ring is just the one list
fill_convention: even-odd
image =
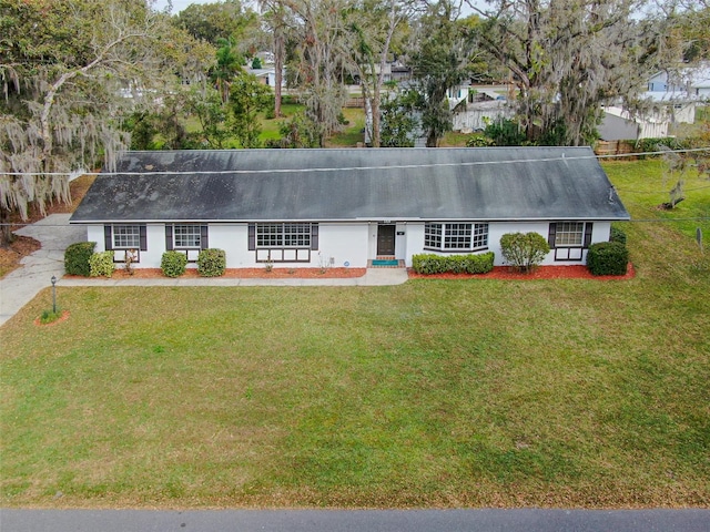
[(590, 149), (493, 147), (126, 152), (71, 222), (628, 218)]

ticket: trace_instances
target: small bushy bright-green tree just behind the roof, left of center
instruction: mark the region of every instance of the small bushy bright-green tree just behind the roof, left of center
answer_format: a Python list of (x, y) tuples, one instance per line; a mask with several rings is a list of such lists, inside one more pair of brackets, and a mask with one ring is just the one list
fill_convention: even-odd
[(271, 89), (260, 83), (256, 76), (242, 71), (234, 78), (230, 95), (230, 130), (242, 147), (260, 146), (261, 125), (256, 115), (273, 104), (273, 98)]

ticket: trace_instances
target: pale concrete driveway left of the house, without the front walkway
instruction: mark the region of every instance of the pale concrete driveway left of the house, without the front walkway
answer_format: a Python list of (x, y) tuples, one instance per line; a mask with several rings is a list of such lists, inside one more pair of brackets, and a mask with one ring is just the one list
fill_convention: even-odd
[(70, 226), (71, 214), (51, 214), (36, 224), (16, 231), (42, 244), (42, 248), (22, 259), (22, 267), (0, 279), (0, 325), (29, 303), (52, 276), (64, 275), (64, 249), (87, 239), (87, 228)]

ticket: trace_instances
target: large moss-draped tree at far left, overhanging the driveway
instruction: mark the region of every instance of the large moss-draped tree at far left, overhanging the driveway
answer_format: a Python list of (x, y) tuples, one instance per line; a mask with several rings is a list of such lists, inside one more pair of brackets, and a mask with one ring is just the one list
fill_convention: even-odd
[[(150, 102), (186, 41), (142, 0), (7, 0), (0, 28), (0, 222), (34, 205), (69, 202), (67, 173), (103, 156), (111, 168), (130, 135), (120, 129)], [(171, 74), (172, 76), (172, 74)]]

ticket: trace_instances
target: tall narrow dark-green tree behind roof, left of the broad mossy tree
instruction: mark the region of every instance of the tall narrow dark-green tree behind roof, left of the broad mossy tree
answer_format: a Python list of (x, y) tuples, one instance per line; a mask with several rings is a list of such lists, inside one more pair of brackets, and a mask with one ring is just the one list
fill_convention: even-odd
[(422, 125), (427, 132), (428, 147), (436, 147), (452, 129), (447, 93), (469, 72), (471, 41), (457, 18), (458, 9), (453, 1), (432, 4), (422, 18), (418, 43), (410, 57), (413, 78), (423, 95)]

